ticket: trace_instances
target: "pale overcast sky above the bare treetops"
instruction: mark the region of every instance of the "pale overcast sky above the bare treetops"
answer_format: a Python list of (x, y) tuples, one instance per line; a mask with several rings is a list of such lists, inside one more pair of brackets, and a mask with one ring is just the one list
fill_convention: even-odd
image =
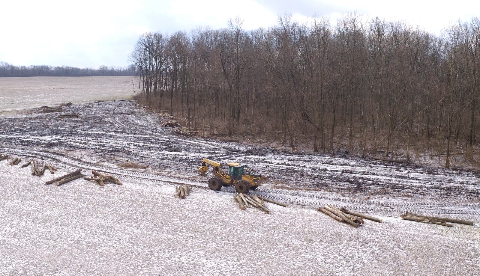
[(480, 0), (2, 0), (0, 10), (0, 61), (98, 67), (128, 65), (144, 32), (223, 28), (236, 15), (255, 29), (286, 12), (299, 21), (317, 14), (335, 22), (357, 11), (440, 34), (450, 22), (480, 16)]

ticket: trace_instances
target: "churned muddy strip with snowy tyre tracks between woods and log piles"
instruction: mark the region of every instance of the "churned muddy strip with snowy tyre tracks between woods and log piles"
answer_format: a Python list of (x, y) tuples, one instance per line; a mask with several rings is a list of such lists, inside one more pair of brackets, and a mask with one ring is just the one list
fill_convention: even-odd
[[(203, 157), (224, 164), (238, 161), (271, 179), (259, 193), (286, 202), (312, 207), (333, 202), (388, 213), (409, 209), (480, 214), (478, 173), (186, 138), (163, 127), (165, 118), (134, 103), (111, 101), (64, 108), (63, 114), (78, 113), (78, 119), (59, 119), (58, 113), (35, 109), (4, 114), (0, 117), (0, 145), (5, 152), (71, 167), (97, 168), (159, 184), (182, 181), (202, 187), (208, 180), (197, 173)], [(130, 161), (148, 168), (119, 167)], [(234, 192), (228, 187), (223, 190)]]

